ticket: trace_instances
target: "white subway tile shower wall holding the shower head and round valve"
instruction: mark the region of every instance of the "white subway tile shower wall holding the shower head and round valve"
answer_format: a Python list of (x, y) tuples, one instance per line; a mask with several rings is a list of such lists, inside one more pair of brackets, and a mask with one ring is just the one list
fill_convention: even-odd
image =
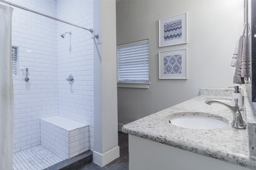
[[(57, 0), (57, 18), (93, 29), (93, 0)], [(61, 34), (66, 34), (63, 39)], [(58, 115), (89, 125), (89, 149), (94, 139), (94, 41), (92, 33), (57, 22)], [(70, 86), (66, 78), (74, 76)]]

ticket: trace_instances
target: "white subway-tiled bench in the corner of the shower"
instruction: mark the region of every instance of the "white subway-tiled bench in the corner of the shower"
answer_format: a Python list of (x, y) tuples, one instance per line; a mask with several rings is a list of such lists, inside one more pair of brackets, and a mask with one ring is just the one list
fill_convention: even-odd
[(89, 150), (89, 125), (62, 116), (40, 119), (41, 145), (62, 160)]

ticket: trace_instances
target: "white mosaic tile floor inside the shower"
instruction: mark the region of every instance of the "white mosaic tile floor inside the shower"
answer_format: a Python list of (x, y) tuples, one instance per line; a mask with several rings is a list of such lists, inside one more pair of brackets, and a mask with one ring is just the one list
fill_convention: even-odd
[(62, 161), (42, 145), (13, 154), (13, 170), (43, 170)]

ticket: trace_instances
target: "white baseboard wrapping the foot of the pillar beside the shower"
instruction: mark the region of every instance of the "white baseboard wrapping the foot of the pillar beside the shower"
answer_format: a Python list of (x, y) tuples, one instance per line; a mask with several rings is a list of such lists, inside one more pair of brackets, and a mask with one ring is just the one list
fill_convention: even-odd
[(115, 160), (116, 158), (118, 158), (120, 156), (119, 153), (120, 153), (119, 146), (103, 154), (93, 151), (93, 162), (103, 167), (109, 162), (111, 162), (112, 160)]

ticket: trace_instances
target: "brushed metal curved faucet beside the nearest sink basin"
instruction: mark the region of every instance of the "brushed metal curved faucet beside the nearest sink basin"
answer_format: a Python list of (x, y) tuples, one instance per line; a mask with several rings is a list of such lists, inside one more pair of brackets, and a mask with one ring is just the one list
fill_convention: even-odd
[(217, 103), (217, 104), (222, 104), (226, 107), (228, 107), (230, 109), (230, 111), (233, 114), (233, 118), (234, 120), (232, 121), (232, 127), (236, 128), (236, 129), (246, 129), (246, 124), (243, 121), (242, 115), (239, 111), (239, 106), (238, 106), (238, 99), (234, 99), (235, 101), (235, 105), (229, 105), (225, 102), (222, 102), (220, 100), (207, 100), (205, 103), (208, 105), (211, 105), (213, 103)]

